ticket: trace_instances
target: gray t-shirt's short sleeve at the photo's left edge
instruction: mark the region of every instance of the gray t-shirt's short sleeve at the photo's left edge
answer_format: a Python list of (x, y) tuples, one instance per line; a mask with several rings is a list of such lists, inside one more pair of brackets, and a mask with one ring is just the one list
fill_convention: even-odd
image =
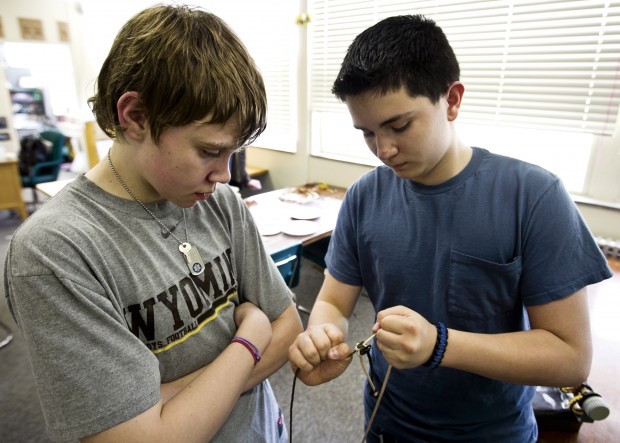
[(105, 296), (54, 274), (7, 274), (53, 439), (100, 432), (159, 401), (157, 359)]

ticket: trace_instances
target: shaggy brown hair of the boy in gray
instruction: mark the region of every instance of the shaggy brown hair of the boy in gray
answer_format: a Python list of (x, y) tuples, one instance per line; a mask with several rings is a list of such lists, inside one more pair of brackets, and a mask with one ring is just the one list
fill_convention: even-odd
[(158, 5), (120, 30), (88, 100), (101, 129), (124, 139), (117, 102), (139, 94), (155, 143), (167, 128), (239, 120), (239, 144), (266, 127), (265, 85), (243, 43), (219, 17), (185, 5)]

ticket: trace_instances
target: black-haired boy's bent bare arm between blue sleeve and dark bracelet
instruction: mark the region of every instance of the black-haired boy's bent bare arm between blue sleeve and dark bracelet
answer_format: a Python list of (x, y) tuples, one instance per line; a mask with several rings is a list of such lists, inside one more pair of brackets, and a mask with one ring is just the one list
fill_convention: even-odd
[(528, 308), (531, 331), (449, 330), (442, 366), (524, 385), (578, 385), (587, 379), (592, 361), (586, 295), (583, 289), (564, 300)]

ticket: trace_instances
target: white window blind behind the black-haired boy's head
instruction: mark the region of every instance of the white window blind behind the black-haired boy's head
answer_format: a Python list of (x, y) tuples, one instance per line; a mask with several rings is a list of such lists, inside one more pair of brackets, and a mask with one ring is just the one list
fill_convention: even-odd
[(331, 86), (353, 38), (423, 14), (446, 33), (465, 84), (459, 120), (611, 135), (620, 104), (619, 1), (309, 0), (313, 113), (346, 112)]

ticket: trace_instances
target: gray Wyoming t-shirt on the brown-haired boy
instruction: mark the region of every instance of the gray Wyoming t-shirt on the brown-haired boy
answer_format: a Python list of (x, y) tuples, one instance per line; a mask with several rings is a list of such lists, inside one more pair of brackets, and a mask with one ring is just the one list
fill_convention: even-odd
[[(202, 275), (190, 274), (179, 242), (137, 202), (84, 176), (11, 241), (5, 292), (55, 440), (100, 432), (152, 407), (161, 383), (207, 365), (228, 346), (240, 301), (271, 321), (291, 303), (249, 211), (228, 186), (190, 209), (147, 207), (198, 249)], [(265, 381), (241, 396), (214, 441), (280, 439), (286, 430)]]

